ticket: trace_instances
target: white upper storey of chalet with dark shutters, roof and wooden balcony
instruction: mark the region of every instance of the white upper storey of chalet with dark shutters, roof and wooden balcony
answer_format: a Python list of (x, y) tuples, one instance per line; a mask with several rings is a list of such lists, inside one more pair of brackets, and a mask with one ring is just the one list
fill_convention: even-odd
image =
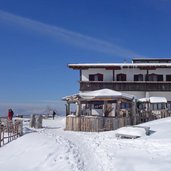
[(137, 98), (166, 97), (171, 103), (171, 58), (133, 59), (132, 63), (69, 64), (80, 71), (80, 91), (112, 89)]

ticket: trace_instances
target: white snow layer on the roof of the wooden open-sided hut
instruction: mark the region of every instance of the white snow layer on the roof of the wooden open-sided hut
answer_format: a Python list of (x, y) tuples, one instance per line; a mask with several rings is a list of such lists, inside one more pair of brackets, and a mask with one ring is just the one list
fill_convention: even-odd
[(95, 90), (95, 91), (91, 91), (91, 92), (80, 92), (79, 96), (82, 98), (89, 98), (89, 99), (104, 98), (104, 97), (108, 97), (108, 98), (122, 97), (122, 98), (126, 98), (126, 99), (134, 98), (133, 95), (121, 93), (119, 91), (114, 91), (114, 90), (110, 90), (110, 89), (101, 89), (101, 90)]

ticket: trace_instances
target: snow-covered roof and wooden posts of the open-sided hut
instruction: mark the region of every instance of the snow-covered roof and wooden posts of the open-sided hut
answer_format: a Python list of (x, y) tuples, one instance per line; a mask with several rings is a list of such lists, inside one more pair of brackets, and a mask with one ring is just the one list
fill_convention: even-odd
[[(70, 104), (76, 104), (76, 116), (81, 115), (82, 105), (83, 104), (92, 104), (95, 102), (103, 102), (104, 109), (107, 109), (106, 106), (108, 103), (116, 103), (116, 113), (117, 115), (120, 112), (120, 103), (126, 102), (130, 103), (132, 107), (132, 114), (135, 113), (135, 97), (130, 94), (110, 90), (110, 89), (101, 89), (90, 92), (80, 92), (71, 96), (66, 96), (63, 98), (67, 102), (66, 104), (66, 115), (70, 114)], [(105, 113), (105, 111), (104, 111)], [(105, 116), (105, 115), (104, 115)]]

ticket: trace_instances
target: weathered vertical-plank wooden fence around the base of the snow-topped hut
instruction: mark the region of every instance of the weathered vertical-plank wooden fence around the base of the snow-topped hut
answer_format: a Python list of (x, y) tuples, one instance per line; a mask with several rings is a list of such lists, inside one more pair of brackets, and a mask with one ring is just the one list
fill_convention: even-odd
[[(161, 115), (161, 118), (170, 116)], [(66, 117), (65, 130), (99, 132), (116, 130), (118, 128), (136, 125), (157, 119), (154, 115), (137, 115), (135, 117), (102, 117), (102, 116), (72, 116)]]

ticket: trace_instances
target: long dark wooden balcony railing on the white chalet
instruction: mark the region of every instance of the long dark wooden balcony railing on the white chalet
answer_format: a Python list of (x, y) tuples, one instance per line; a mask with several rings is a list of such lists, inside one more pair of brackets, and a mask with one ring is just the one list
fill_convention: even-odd
[(80, 91), (171, 91), (171, 81), (80, 81)]

